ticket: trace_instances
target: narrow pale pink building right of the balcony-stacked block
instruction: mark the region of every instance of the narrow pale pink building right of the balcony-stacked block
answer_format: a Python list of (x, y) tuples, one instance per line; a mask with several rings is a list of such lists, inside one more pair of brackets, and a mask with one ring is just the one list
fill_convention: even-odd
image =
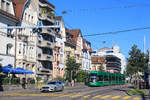
[(56, 16), (55, 25), (60, 26), (59, 32), (56, 34), (55, 49), (54, 49), (54, 62), (53, 62), (53, 79), (58, 77), (63, 78), (65, 73), (65, 26), (62, 16)]

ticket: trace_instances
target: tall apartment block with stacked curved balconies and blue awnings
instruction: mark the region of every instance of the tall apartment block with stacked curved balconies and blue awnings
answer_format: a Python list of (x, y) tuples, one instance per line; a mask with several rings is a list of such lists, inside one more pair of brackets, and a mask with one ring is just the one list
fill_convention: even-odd
[[(39, 0), (38, 21), (41, 25), (55, 25), (55, 7), (47, 0)], [(52, 79), (53, 50), (55, 41), (55, 29), (42, 28), (37, 37), (37, 75), (43, 80)]]

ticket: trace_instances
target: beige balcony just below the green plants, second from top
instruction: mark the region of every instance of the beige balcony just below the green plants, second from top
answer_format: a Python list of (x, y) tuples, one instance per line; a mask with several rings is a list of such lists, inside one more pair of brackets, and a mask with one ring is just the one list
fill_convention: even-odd
[(49, 14), (49, 13), (42, 13), (42, 12), (40, 12), (39, 13), (39, 18), (41, 20), (49, 21), (49, 22), (51, 22), (53, 24), (55, 23), (54, 17), (52, 16), (52, 14)]

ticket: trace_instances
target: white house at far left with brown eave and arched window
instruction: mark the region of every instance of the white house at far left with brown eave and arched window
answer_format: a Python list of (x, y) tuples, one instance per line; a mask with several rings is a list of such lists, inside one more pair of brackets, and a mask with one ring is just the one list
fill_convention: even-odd
[[(0, 26), (16, 26), (12, 0), (0, 0)], [(16, 30), (0, 29), (0, 64), (15, 66)]]

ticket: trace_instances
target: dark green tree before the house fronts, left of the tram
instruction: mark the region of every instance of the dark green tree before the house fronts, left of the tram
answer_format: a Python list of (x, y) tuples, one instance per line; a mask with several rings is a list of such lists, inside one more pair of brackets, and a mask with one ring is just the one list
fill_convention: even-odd
[(76, 63), (76, 60), (74, 57), (68, 57), (67, 62), (66, 62), (66, 72), (67, 72), (67, 80), (70, 82), (72, 79), (74, 80), (76, 78), (76, 73), (79, 70), (81, 64)]

